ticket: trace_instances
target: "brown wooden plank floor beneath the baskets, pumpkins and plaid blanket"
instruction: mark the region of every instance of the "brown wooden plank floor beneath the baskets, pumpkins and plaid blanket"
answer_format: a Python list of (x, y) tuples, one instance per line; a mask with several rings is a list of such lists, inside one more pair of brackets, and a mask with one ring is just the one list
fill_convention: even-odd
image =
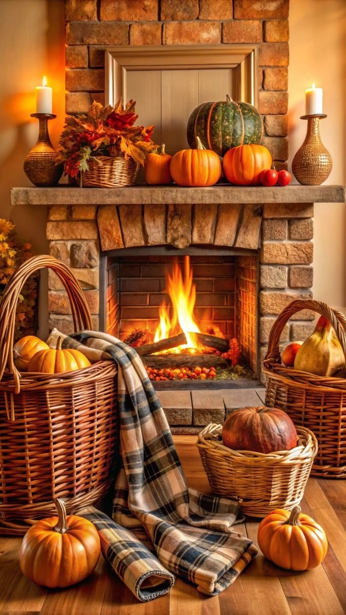
[[(187, 481), (210, 488), (203, 473), (195, 436), (176, 436)], [(344, 615), (346, 613), (346, 481), (310, 478), (302, 509), (326, 530), (329, 547), (321, 566), (290, 573), (273, 566), (261, 553), (218, 597), (208, 598), (180, 579), (170, 593), (140, 603), (100, 558), (92, 576), (66, 590), (46, 590), (22, 576), (18, 565), (21, 539), (0, 536), (1, 615)], [(237, 530), (239, 530), (237, 525)], [(258, 521), (242, 531), (256, 542)]]

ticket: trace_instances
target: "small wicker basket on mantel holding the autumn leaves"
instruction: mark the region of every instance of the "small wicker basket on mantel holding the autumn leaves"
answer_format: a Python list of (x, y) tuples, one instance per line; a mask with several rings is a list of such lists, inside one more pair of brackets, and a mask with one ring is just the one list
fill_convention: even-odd
[(122, 188), (135, 184), (140, 165), (124, 156), (95, 156), (88, 160), (88, 167), (81, 173), (84, 188)]

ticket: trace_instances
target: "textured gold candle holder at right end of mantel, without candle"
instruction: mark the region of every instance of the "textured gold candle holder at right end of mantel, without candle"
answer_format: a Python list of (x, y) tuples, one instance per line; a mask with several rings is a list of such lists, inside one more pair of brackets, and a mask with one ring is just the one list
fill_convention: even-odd
[(305, 186), (320, 186), (332, 170), (332, 157), (320, 138), (320, 119), (324, 114), (305, 115), (307, 134), (301, 148), (292, 161), (292, 171), (296, 180)]

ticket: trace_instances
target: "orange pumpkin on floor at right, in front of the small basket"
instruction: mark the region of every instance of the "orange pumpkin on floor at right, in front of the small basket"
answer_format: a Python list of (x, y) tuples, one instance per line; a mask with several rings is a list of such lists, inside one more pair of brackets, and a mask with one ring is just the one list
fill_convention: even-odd
[(273, 510), (258, 527), (262, 553), (281, 568), (310, 570), (326, 557), (328, 542), (323, 528), (300, 506), (293, 510)]

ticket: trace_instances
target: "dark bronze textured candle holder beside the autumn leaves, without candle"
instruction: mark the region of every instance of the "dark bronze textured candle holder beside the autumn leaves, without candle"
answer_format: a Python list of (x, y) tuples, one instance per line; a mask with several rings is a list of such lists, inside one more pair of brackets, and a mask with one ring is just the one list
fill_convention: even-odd
[(55, 164), (57, 152), (50, 143), (48, 121), (54, 119), (52, 113), (31, 113), (39, 121), (39, 138), (24, 161), (26, 177), (35, 186), (55, 186), (63, 173), (63, 165)]

